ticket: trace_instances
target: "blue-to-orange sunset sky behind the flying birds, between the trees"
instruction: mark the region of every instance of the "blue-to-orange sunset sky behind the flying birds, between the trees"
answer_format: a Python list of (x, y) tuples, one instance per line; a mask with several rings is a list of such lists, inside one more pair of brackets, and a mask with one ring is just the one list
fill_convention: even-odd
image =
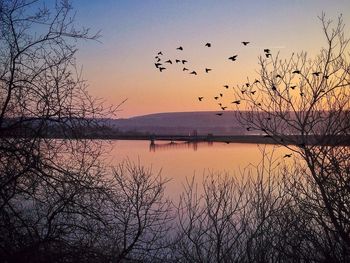
[[(322, 11), (333, 19), (342, 13), (350, 32), (349, 0), (73, 0), (73, 7), (78, 25), (101, 30), (102, 43), (79, 43), (78, 63), (92, 95), (107, 104), (127, 99), (118, 117), (218, 110), (213, 100), (197, 97), (233, 96), (222, 86), (254, 79), (263, 48), (282, 57), (320, 50)], [(180, 45), (183, 51), (176, 50)], [(183, 73), (180, 65), (160, 73), (158, 51), (165, 59), (187, 59), (198, 75)], [(230, 62), (234, 54), (238, 59)], [(206, 74), (205, 67), (213, 71)]]

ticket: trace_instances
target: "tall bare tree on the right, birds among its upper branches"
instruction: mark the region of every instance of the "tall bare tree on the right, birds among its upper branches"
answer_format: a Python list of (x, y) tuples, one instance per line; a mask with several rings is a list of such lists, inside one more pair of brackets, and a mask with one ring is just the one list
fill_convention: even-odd
[(327, 46), (316, 57), (261, 56), (259, 79), (236, 95), (248, 108), (244, 125), (302, 158), (310, 213), (349, 255), (349, 38), (341, 16), (335, 27), (320, 20)]

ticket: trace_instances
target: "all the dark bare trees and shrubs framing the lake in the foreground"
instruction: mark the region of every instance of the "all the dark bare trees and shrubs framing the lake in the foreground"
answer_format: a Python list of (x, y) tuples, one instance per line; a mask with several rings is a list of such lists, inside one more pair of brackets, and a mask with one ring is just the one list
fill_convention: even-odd
[[(349, 147), (309, 137), (349, 135), (341, 17), (335, 26), (321, 17), (327, 46), (316, 58), (260, 58), (264, 96), (241, 98), (254, 113), (241, 123), (277, 139), (294, 162), (263, 151), (242, 174), (206, 175), (202, 191), (189, 179), (172, 203), (161, 174), (129, 161), (110, 168), (103, 141), (70, 139), (76, 120), (96, 130), (94, 120), (113, 114), (76, 74), (76, 40), (98, 36), (74, 28), (70, 11), (68, 1), (51, 10), (0, 1), (0, 134), (10, 118), (40, 120), (31, 136), (0, 136), (0, 262), (350, 261)], [(298, 99), (286, 88), (294, 81)], [(52, 122), (67, 137), (42, 136)], [(293, 147), (281, 140), (291, 127), (300, 134)]]

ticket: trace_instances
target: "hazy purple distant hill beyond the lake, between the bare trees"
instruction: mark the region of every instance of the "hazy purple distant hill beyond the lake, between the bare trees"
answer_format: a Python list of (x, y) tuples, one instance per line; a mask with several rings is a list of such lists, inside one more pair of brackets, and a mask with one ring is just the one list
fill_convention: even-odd
[[(223, 113), (222, 116), (216, 113)], [(188, 135), (242, 135), (234, 111), (156, 113), (128, 119), (109, 120), (108, 126), (120, 132)]]

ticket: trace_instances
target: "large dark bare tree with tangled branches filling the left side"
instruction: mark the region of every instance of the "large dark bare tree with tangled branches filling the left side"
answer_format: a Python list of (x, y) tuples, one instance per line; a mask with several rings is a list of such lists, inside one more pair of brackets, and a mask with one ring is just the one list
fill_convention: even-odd
[[(102, 105), (75, 63), (72, 7), (0, 1), (0, 257), (5, 262), (63, 261), (88, 247), (99, 219), (100, 142), (78, 138), (99, 125)], [(52, 134), (61, 139), (50, 139)], [(91, 251), (90, 251), (91, 252)], [(92, 255), (87, 253), (87, 257)], [(93, 258), (93, 257), (91, 257)], [(83, 260), (82, 260), (83, 261)]]

